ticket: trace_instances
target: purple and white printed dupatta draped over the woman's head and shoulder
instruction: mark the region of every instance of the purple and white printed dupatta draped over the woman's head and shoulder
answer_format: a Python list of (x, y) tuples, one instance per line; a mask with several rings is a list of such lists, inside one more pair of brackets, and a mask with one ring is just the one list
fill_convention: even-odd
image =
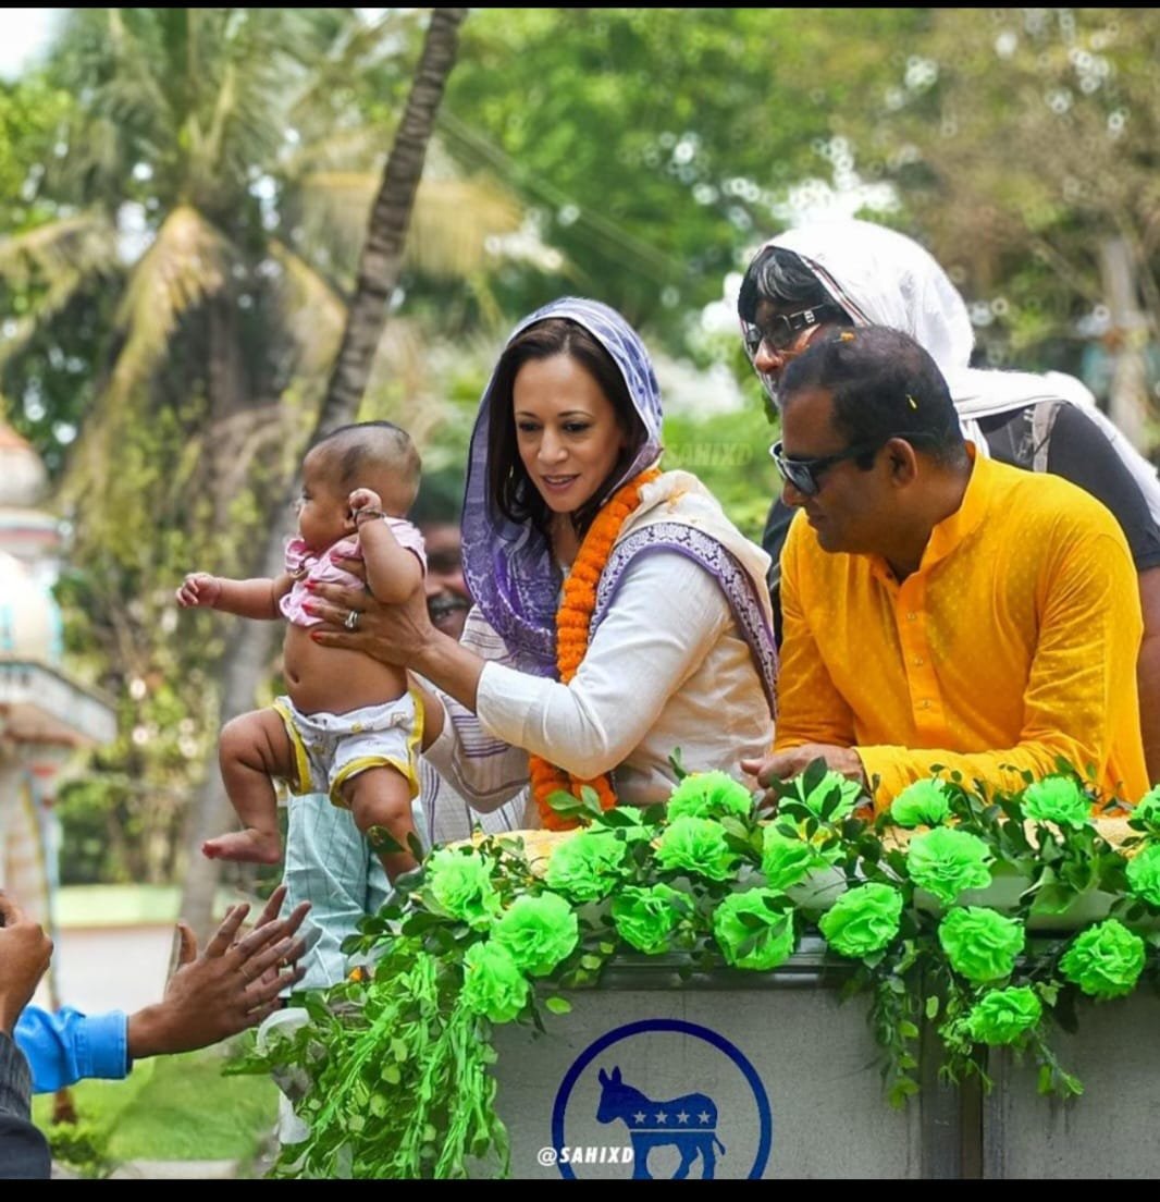
[[(551, 317), (576, 322), (608, 351), (624, 377), (633, 406), (645, 428), (645, 440), (624, 474), (612, 481), (608, 492), (608, 495), (611, 495), (621, 484), (638, 476), (660, 457), (660, 389), (652, 362), (632, 326), (615, 309), (599, 300), (579, 297), (554, 300), (521, 321), (510, 337), (515, 338), (528, 326)], [(556, 677), (560, 569), (548, 540), (531, 524), (507, 519), (495, 508), (489, 496), (488, 430), (494, 404), (494, 385), (495, 376), (484, 389), (479, 416), (471, 436), (462, 516), (464, 576), (483, 615), (512, 654), (514, 666), (534, 676)], [(636, 541), (634, 549), (658, 551), (666, 545), (670, 549), (689, 554), (688, 542), (682, 543), (676, 537), (671, 540), (650, 537), (646, 542)], [(692, 558), (717, 577), (729, 597), (753, 651), (772, 712), (777, 653), (772, 631), (764, 618), (763, 606), (754, 595), (755, 582), (718, 543), (708, 546), (701, 538), (699, 549), (700, 553)], [(635, 557), (632, 554), (614, 553), (610, 559), (600, 577), (599, 594), (604, 603), (598, 605), (592, 624), (593, 631), (604, 617), (609, 602), (615, 596), (620, 577), (633, 558)]]

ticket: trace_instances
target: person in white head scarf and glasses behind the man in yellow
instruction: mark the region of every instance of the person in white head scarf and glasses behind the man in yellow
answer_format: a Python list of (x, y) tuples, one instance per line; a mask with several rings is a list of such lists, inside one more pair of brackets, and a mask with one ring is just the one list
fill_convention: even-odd
[[(958, 290), (919, 243), (868, 221), (813, 222), (767, 242), (746, 270), (737, 310), (749, 361), (775, 403), (782, 369), (818, 331), (889, 326), (914, 338), (938, 364), (963, 433), (980, 454), (1063, 476), (1112, 511), (1140, 582), (1141, 730), (1149, 776), (1160, 780), (1160, 481), (1092, 393), (1062, 373), (971, 368), (974, 329)], [(778, 631), (778, 561), (791, 517), (775, 500), (761, 540), (772, 559)]]

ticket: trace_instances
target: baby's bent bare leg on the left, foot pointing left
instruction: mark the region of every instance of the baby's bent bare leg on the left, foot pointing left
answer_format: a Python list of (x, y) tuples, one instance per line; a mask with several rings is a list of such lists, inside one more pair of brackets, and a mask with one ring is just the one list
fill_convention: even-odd
[(282, 857), (277, 796), (271, 778), (294, 779), (294, 748), (274, 709), (257, 709), (228, 721), (217, 744), (222, 781), (244, 831), (202, 844), (210, 859), (276, 864)]

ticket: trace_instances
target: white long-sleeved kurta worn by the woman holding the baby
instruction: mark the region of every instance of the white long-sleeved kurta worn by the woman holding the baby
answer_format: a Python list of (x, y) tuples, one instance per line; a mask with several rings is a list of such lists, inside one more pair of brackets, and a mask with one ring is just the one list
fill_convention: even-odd
[(477, 809), (494, 809), (527, 784), (527, 752), (588, 779), (615, 769), (623, 803), (664, 801), (668, 762), (741, 775), (765, 755), (773, 721), (748, 644), (705, 569), (653, 551), (626, 569), (570, 685), (508, 667), (500, 637), (478, 611), (461, 639), (488, 660), (472, 714), (443, 696), (448, 721), (426, 756)]

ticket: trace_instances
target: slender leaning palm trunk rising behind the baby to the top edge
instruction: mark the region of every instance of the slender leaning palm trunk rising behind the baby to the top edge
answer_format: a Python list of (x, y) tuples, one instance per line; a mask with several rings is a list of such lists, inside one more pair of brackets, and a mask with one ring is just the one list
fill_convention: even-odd
[[(387, 300), (399, 284), (402, 249), (411, 222), (427, 143), (443, 99), (447, 78), (459, 52), (459, 26), (466, 8), (433, 8), (415, 70), (407, 107), (387, 157), (383, 183), (371, 210), (366, 243), (359, 260), (358, 287), (347, 314), (346, 332), (335, 359), (327, 394), (310, 441), (339, 426), (353, 422), (366, 391), (375, 351), (387, 325)], [(298, 481), (291, 481), (285, 499), (267, 514), (269, 537), (258, 567), (261, 575), (276, 576), (282, 569), (286, 531), (279, 520), (295, 495)], [(222, 679), (221, 722), (252, 709), (257, 689), (269, 664), (274, 623), (247, 621), (229, 641)], [(190, 857), (181, 895), (181, 917), (205, 939), (213, 929), (214, 892), (220, 863), (201, 853), (204, 839), (237, 826), (233, 809), (221, 784), (216, 751), (207, 764), (205, 783), (198, 795), (189, 829)]]

